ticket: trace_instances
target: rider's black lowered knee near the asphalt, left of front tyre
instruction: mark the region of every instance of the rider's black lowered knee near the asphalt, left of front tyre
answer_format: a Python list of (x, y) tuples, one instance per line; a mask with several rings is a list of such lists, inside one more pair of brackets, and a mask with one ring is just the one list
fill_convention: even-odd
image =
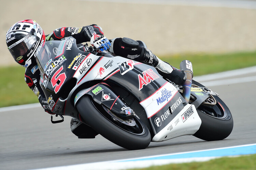
[(81, 121), (71, 118), (70, 129), (79, 139), (92, 139), (99, 133), (93, 130), (90, 126), (82, 123)]

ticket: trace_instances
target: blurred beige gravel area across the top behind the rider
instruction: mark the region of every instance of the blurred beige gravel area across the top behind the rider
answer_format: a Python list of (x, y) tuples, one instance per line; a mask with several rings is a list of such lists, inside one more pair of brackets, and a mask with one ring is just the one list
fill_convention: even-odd
[(143, 40), (158, 56), (252, 51), (256, 49), (255, 1), (241, 2), (1, 0), (0, 58), (4, 62), (0, 67), (16, 65), (6, 48), (5, 34), (24, 19), (37, 21), (45, 34), (95, 23), (107, 38)]

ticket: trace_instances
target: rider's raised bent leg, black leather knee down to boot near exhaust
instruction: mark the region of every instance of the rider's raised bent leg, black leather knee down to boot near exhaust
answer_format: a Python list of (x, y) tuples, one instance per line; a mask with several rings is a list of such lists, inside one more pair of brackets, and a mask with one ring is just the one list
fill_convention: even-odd
[(116, 55), (155, 67), (160, 75), (175, 84), (182, 85), (186, 80), (186, 74), (183, 70), (160, 60), (146, 48), (142, 41), (135, 41), (130, 38), (115, 38), (112, 39), (109, 50)]

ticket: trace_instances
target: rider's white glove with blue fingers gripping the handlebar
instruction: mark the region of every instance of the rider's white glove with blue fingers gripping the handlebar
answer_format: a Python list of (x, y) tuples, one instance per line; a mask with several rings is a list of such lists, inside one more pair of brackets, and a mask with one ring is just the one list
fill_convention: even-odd
[[(97, 52), (102, 52), (104, 50), (107, 50), (110, 48), (111, 43), (109, 42), (109, 40), (104, 37), (103, 35), (93, 35), (91, 37), (91, 41), (90, 41), (91, 45), (95, 48), (95, 49), (99, 49), (97, 50)], [(102, 47), (102, 48), (100, 48)]]

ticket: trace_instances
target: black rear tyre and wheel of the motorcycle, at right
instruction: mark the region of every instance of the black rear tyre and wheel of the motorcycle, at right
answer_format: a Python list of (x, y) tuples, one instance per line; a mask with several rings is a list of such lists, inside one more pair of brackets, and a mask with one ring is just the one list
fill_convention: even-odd
[[(204, 87), (194, 80), (192, 84)], [(207, 141), (225, 139), (233, 129), (233, 118), (229, 108), (219, 97), (213, 97), (216, 100), (215, 105), (200, 105), (197, 108), (202, 124), (199, 130), (193, 135)]]

